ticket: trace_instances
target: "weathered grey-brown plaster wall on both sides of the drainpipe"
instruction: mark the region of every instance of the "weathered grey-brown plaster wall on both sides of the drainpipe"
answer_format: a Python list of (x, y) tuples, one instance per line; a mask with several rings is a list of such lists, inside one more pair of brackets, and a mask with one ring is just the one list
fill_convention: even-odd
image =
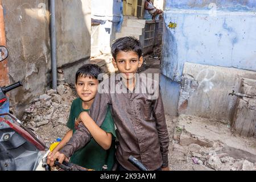
[[(77, 63), (85, 63), (78, 60), (88, 60), (90, 56), (90, 1), (55, 2), (57, 66), (64, 65), (65, 78), (71, 82), (75, 80), (72, 77)], [(22, 88), (11, 92), (11, 105), (21, 115), (28, 102), (42, 94), (51, 82), (48, 1), (3, 0), (2, 4), (10, 81), (23, 81)]]

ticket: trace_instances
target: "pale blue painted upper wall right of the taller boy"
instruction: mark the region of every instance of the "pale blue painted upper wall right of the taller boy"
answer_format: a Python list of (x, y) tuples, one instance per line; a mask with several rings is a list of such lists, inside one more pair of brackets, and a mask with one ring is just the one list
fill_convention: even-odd
[(180, 84), (186, 62), (256, 71), (255, 10), (252, 0), (166, 1), (161, 73)]

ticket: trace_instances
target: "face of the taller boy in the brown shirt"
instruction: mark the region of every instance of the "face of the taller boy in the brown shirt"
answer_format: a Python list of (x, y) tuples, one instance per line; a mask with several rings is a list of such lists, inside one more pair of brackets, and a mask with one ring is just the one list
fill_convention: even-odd
[(116, 59), (112, 59), (112, 63), (115, 68), (122, 73), (123, 78), (130, 80), (134, 78), (138, 68), (141, 68), (143, 63), (143, 57), (139, 57), (134, 51), (119, 51)]

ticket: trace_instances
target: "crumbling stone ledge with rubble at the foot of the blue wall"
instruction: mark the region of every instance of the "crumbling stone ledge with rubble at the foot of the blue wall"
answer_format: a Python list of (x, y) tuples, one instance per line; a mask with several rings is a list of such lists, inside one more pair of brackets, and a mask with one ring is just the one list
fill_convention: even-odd
[[(178, 117), (170, 147), (170, 163), (174, 170), (256, 171), (255, 150), (249, 154), (233, 148), (246, 144), (255, 149), (255, 139), (233, 136), (226, 123), (207, 122), (188, 115)], [(203, 125), (204, 123), (204, 125)], [(174, 124), (174, 123), (173, 123)], [(204, 128), (204, 129), (203, 129)], [(193, 132), (195, 131), (195, 132)], [(223, 136), (221, 134), (223, 133)], [(203, 137), (206, 135), (210, 137)], [(247, 149), (249, 147), (246, 147)], [(247, 155), (246, 155), (247, 154)], [(251, 156), (250, 156), (251, 155)]]

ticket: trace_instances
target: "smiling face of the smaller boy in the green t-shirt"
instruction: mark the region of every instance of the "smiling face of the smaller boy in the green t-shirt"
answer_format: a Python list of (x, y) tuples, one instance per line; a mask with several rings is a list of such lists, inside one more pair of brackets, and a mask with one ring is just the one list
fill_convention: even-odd
[(88, 102), (97, 94), (98, 80), (95, 78), (79, 76), (76, 82), (76, 92), (82, 101)]

